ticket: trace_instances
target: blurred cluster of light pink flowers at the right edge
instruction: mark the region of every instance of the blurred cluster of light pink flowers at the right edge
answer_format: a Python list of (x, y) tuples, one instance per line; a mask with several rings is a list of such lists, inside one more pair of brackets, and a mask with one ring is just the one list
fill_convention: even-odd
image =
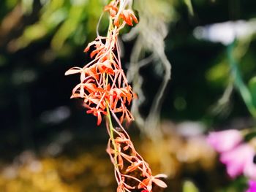
[(220, 153), (220, 161), (227, 166), (227, 174), (235, 178), (241, 174), (256, 181), (255, 150), (246, 142), (240, 131), (213, 132), (208, 143)]

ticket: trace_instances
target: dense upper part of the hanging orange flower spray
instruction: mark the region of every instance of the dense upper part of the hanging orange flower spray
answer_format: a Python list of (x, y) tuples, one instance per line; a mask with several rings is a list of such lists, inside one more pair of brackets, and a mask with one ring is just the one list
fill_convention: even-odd
[(132, 10), (124, 9), (127, 3), (125, 0), (116, 0), (105, 7), (105, 11), (110, 12), (112, 18), (108, 36), (99, 36), (86, 47), (85, 52), (89, 52), (93, 47), (90, 54), (93, 60), (89, 64), (83, 68), (73, 67), (65, 73), (80, 73), (80, 83), (73, 89), (71, 98), (83, 98), (87, 113), (97, 117), (97, 125), (102, 122), (102, 115), (107, 114), (107, 107), (111, 112), (121, 114), (121, 122), (124, 119), (127, 122), (133, 120), (126, 104), (130, 104), (135, 93), (128, 85), (127, 77), (121, 68), (117, 39), (119, 31), (126, 23), (130, 26), (132, 21), (138, 23)]

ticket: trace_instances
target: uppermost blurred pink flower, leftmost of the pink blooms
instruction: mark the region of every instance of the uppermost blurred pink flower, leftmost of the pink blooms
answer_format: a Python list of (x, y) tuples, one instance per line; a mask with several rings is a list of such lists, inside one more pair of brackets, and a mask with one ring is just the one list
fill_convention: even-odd
[(235, 129), (212, 132), (207, 137), (207, 142), (219, 153), (232, 150), (239, 143), (241, 143), (242, 140), (243, 137), (240, 131)]

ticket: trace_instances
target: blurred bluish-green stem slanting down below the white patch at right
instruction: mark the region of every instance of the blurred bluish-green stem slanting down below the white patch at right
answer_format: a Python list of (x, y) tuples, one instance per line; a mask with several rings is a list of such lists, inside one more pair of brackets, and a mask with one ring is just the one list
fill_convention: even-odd
[(249, 92), (249, 89), (244, 84), (244, 81), (241, 77), (241, 73), (238, 69), (238, 61), (236, 61), (236, 58), (233, 54), (235, 44), (236, 41), (234, 41), (227, 47), (228, 63), (230, 64), (231, 74), (233, 76), (234, 84), (238, 91), (240, 92), (241, 97), (244, 99), (247, 109), (252, 114), (252, 116), (256, 118), (256, 109), (252, 102), (252, 95)]

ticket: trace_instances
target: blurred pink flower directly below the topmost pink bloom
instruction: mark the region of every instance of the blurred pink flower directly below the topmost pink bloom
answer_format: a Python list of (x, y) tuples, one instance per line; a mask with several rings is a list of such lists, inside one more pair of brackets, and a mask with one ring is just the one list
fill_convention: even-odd
[(254, 149), (247, 144), (239, 145), (233, 150), (220, 155), (220, 161), (227, 166), (227, 174), (235, 178), (244, 172), (244, 169), (255, 154)]

